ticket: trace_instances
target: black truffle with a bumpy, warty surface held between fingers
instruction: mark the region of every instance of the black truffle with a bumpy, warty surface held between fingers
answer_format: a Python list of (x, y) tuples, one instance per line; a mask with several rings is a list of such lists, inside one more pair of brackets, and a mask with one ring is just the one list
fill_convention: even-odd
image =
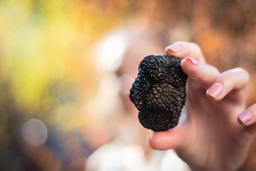
[(130, 100), (140, 110), (138, 118), (143, 127), (162, 131), (178, 124), (188, 78), (180, 61), (175, 56), (146, 56), (140, 62)]

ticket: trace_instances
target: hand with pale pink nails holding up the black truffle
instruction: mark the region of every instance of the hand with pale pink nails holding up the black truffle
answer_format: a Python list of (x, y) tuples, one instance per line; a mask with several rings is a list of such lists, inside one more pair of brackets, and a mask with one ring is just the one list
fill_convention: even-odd
[(183, 58), (187, 102), (180, 123), (154, 132), (148, 145), (155, 150), (175, 148), (193, 170), (237, 170), (256, 132), (256, 104), (245, 109), (247, 71), (234, 68), (220, 73), (205, 63), (195, 43), (176, 42), (165, 53)]

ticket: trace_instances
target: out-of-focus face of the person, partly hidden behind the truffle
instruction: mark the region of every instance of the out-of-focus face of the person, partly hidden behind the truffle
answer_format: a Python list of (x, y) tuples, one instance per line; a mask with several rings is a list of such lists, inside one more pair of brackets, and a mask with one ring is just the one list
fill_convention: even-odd
[(135, 78), (138, 76), (138, 65), (140, 61), (142, 61), (145, 56), (163, 55), (163, 53), (164, 48), (160, 47), (158, 43), (152, 40), (135, 41), (126, 49), (126, 53), (123, 55), (123, 62), (116, 72), (120, 83), (119, 95), (126, 113), (138, 115), (138, 110), (130, 101), (129, 94), (130, 88)]

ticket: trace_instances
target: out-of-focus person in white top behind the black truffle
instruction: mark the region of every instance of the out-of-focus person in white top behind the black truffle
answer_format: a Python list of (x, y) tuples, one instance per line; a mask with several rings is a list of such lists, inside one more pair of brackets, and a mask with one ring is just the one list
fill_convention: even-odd
[[(122, 36), (126, 34), (126, 36)], [(164, 54), (163, 40), (155, 31), (141, 28), (140, 24), (128, 26), (116, 31), (109, 37), (119, 35), (125, 48), (121, 55), (121, 63), (113, 72), (118, 85), (118, 98), (122, 108), (115, 115), (110, 115), (108, 128), (116, 135), (113, 141), (98, 148), (88, 157), (86, 170), (189, 170), (173, 150), (150, 150), (145, 143), (151, 131), (143, 128), (138, 121), (138, 110), (130, 102), (130, 88), (138, 75), (140, 61), (148, 55)], [(116, 41), (113, 48), (120, 48)], [(118, 51), (118, 50), (117, 50)], [(108, 54), (114, 56), (115, 54)], [(105, 63), (106, 64), (106, 63)], [(112, 101), (114, 97), (111, 97)]]

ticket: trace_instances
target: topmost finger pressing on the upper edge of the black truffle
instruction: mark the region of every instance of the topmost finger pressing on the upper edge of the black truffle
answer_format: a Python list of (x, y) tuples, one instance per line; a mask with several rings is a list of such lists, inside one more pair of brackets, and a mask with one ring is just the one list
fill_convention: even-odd
[(165, 48), (165, 53), (170, 56), (177, 56), (179, 58), (185, 58), (190, 56), (195, 60), (205, 63), (205, 57), (201, 51), (201, 48), (196, 43), (177, 41), (172, 45)]

